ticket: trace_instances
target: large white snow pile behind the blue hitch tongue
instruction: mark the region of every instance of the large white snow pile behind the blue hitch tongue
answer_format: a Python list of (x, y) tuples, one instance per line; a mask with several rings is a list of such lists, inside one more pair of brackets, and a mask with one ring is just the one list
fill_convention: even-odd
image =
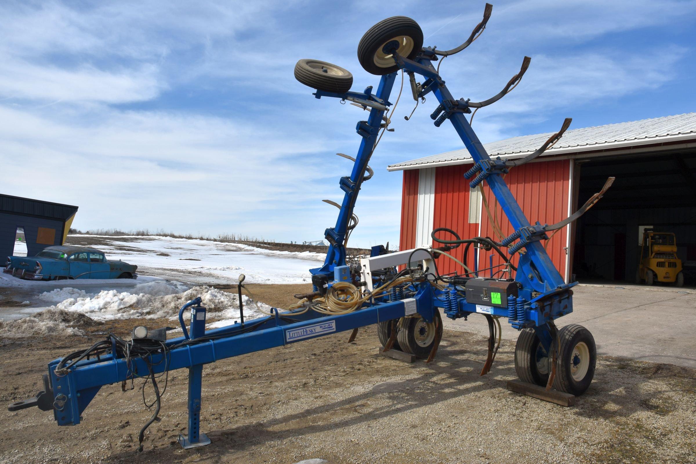
[[(74, 289), (45, 292), (44, 298), (51, 298), (49, 294), (54, 292), (57, 296), (61, 291), (68, 292), (69, 290)], [(177, 319), (180, 307), (200, 296), (203, 306), (207, 308), (207, 319), (239, 318), (239, 298), (237, 295), (216, 288), (193, 287), (182, 293), (177, 293), (177, 289), (164, 282), (151, 282), (138, 285), (133, 290), (141, 292), (104, 290), (95, 295), (74, 293), (73, 296), (57, 303), (53, 308), (68, 312), (80, 312), (97, 321), (134, 317)], [(251, 298), (242, 296), (242, 301), (245, 307), (245, 317), (252, 319), (261, 315)], [(259, 305), (266, 311), (270, 310), (268, 305), (263, 303), (259, 303)]]

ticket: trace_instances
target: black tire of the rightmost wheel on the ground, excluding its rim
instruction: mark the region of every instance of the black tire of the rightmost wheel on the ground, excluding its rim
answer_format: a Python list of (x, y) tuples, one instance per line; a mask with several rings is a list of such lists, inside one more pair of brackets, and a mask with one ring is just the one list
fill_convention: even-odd
[[(592, 378), (594, 378), (594, 369), (597, 363), (597, 347), (594, 344), (594, 337), (590, 330), (587, 330), (579, 324), (571, 324), (570, 326), (562, 327), (558, 331), (560, 338), (560, 353), (556, 366), (556, 376), (553, 379), (553, 387), (560, 391), (576, 396), (585, 393), (585, 390), (590, 387)], [(574, 349), (584, 343), (587, 346), (588, 365), (587, 371), (583, 378), (576, 380), (573, 378), (572, 368), (574, 367)], [(580, 359), (577, 360), (580, 362)]]

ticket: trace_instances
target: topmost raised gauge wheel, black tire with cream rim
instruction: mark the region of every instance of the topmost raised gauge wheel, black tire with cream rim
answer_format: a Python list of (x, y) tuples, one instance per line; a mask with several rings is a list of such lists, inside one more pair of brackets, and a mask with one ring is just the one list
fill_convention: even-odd
[(399, 69), (390, 47), (396, 48), (400, 56), (413, 58), (422, 46), (423, 31), (417, 22), (406, 16), (388, 17), (363, 35), (358, 45), (358, 61), (365, 71), (383, 76)]

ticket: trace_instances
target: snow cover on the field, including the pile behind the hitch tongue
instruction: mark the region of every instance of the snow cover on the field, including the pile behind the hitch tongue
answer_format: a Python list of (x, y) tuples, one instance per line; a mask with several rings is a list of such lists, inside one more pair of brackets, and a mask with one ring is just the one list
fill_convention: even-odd
[[(111, 260), (137, 264), (139, 278), (33, 282), (0, 273), (0, 320), (30, 317), (25, 325), (35, 331), (36, 324), (41, 323), (30, 320), (31, 314), (47, 308), (79, 312), (97, 321), (132, 317), (175, 319), (179, 307), (201, 296), (209, 319), (219, 320), (212, 325), (221, 326), (239, 318), (239, 302), (236, 294), (215, 289), (214, 285), (235, 284), (240, 273), (251, 283), (308, 282), (308, 270), (320, 266), (324, 258), (319, 253), (168, 237), (76, 235), (70, 236), (68, 243), (93, 246)], [(255, 303), (243, 298), (245, 316), (260, 316)], [(262, 310), (269, 309), (260, 306)]]

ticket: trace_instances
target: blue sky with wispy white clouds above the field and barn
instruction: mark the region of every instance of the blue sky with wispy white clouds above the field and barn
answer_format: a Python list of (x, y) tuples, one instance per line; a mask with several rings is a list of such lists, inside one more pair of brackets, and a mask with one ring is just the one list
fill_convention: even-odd
[[(365, 113), (315, 99), (294, 63), (358, 64), (363, 33), (393, 15), (426, 45), (459, 45), (484, 1), (3, 1), (2, 193), (80, 207), (81, 229), (148, 227), (315, 240), (333, 225), (338, 179)], [(447, 58), (455, 97), (484, 99), (532, 65), (513, 93), (479, 111), (491, 142), (696, 109), (696, 1), (495, 1), (487, 30)], [(395, 92), (400, 78), (397, 78)], [(398, 241), (401, 173), (390, 163), (461, 147), (413, 109), (408, 81), (363, 186), (354, 245)]]

